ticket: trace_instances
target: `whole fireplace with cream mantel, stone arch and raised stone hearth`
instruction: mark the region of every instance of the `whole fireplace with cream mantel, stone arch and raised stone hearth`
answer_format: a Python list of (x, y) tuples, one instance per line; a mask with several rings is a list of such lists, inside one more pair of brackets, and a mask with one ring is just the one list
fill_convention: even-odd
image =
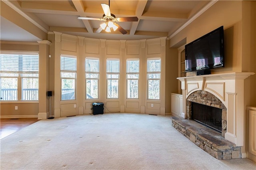
[[(246, 158), (244, 79), (254, 74), (233, 72), (178, 77), (182, 89), (182, 112), (180, 117), (174, 118), (173, 126), (215, 158)], [(221, 135), (192, 121), (192, 102), (221, 109)], [(213, 132), (209, 134), (208, 131)], [(228, 143), (225, 147), (229, 149), (223, 148), (223, 142)]]

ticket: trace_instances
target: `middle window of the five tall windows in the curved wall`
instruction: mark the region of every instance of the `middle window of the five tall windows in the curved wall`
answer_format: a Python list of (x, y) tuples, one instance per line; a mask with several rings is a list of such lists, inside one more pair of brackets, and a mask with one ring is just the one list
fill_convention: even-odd
[(107, 59), (107, 98), (117, 99), (119, 97), (119, 59)]

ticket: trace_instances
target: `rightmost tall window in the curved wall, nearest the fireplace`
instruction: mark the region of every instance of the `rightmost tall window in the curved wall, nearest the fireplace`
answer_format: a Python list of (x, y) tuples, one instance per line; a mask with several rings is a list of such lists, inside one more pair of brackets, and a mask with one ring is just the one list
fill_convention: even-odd
[(160, 99), (161, 59), (148, 59), (148, 99)]

